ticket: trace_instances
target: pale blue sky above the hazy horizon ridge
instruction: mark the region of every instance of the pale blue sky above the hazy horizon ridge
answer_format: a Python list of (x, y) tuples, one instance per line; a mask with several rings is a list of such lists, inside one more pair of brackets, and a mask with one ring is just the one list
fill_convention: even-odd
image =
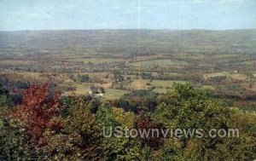
[(256, 0), (0, 0), (0, 30), (256, 28)]

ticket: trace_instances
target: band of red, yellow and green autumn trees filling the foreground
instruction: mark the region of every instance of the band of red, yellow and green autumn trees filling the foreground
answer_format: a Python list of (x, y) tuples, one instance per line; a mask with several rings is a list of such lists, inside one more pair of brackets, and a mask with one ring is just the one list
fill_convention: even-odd
[[(0, 88), (1, 98), (7, 95)], [(166, 95), (133, 91), (120, 101), (30, 86), (20, 105), (0, 107), (0, 160), (253, 160), (256, 116), (175, 84)], [(127, 105), (128, 102), (128, 106)], [(131, 110), (137, 108), (137, 110)], [(104, 137), (103, 127), (240, 129), (238, 138)]]

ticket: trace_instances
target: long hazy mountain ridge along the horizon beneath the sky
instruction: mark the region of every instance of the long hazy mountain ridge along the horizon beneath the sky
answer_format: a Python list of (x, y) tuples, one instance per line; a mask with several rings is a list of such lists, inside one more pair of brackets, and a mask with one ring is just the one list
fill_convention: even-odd
[(256, 29), (247, 30), (67, 30), (0, 32), (0, 49), (113, 55), (256, 52)]

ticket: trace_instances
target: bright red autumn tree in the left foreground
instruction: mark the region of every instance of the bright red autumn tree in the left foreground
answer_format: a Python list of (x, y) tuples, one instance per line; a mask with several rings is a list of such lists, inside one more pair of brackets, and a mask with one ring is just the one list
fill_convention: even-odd
[(26, 130), (34, 139), (43, 135), (44, 129), (61, 129), (61, 123), (52, 121), (57, 116), (56, 108), (60, 103), (60, 93), (49, 97), (48, 83), (42, 87), (32, 85), (25, 90), (22, 104), (15, 108), (13, 116), (25, 124)]

